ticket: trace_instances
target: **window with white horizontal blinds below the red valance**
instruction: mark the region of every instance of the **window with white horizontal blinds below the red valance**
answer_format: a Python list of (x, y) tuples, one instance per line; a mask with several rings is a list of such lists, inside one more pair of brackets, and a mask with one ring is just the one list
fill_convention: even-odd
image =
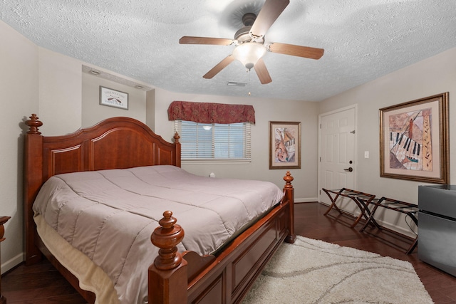
[(182, 161), (250, 161), (250, 123), (205, 124), (175, 120)]

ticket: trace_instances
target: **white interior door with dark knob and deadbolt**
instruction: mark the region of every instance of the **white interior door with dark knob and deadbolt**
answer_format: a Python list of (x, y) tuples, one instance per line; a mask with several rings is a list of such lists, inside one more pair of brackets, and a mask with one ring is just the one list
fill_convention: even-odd
[[(356, 189), (356, 105), (320, 115), (318, 199), (331, 204), (321, 189)], [(353, 213), (351, 199), (338, 203)]]

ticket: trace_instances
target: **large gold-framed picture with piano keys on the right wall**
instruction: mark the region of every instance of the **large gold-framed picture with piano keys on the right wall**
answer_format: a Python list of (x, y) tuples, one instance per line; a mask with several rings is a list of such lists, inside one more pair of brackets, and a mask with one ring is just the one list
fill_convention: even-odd
[(450, 183), (448, 92), (380, 109), (380, 177)]

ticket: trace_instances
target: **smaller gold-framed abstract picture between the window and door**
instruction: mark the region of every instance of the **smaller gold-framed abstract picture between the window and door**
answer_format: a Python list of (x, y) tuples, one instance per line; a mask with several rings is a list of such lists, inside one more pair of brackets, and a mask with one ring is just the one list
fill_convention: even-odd
[(301, 169), (301, 122), (269, 122), (269, 169)]

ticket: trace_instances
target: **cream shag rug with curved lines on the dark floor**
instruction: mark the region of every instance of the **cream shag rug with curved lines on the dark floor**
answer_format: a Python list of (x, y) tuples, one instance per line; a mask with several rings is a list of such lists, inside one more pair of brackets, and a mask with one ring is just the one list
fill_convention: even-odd
[(281, 245), (242, 303), (433, 302), (407, 261), (298, 236)]

